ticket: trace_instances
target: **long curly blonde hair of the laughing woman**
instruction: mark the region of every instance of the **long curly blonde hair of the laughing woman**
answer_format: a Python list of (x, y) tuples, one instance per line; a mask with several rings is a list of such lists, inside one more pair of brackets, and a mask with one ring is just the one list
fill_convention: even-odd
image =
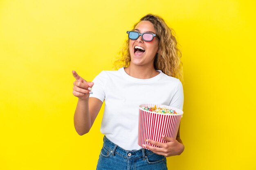
[[(156, 54), (154, 61), (155, 70), (161, 70), (164, 74), (178, 78), (183, 82), (181, 51), (177, 47), (177, 39), (173, 29), (169, 28), (162, 17), (157, 15), (147, 14), (139, 20), (139, 22), (141, 21), (151, 22), (159, 36), (159, 52)], [(133, 29), (139, 22), (133, 26)], [(120, 54), (121, 57), (114, 63), (116, 69), (130, 65), (129, 39), (124, 43)]]

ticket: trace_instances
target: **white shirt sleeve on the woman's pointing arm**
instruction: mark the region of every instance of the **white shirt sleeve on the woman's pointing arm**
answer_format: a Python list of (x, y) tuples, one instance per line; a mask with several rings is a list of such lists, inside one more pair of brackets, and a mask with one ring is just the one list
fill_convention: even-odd
[(106, 73), (102, 71), (92, 82), (94, 83), (92, 86), (93, 94), (90, 94), (90, 97), (98, 98), (103, 102), (105, 99)]

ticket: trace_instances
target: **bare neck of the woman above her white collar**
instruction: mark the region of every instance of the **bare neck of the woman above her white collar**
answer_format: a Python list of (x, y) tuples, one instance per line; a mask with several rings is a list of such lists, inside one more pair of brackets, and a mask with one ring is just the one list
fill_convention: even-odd
[(154, 68), (148, 66), (139, 66), (139, 65), (129, 65), (129, 67), (124, 68), (124, 71), (134, 77), (140, 79), (148, 79), (157, 76), (159, 72), (157, 72)]

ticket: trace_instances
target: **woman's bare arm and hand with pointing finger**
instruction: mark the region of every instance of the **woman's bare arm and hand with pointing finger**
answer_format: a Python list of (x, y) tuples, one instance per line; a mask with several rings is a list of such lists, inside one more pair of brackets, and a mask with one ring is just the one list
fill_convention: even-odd
[(74, 113), (74, 126), (79, 135), (84, 135), (90, 131), (101, 109), (102, 102), (98, 98), (89, 98), (90, 93), (92, 93), (92, 82), (85, 81), (75, 71), (72, 73), (76, 78), (73, 94), (79, 98)]

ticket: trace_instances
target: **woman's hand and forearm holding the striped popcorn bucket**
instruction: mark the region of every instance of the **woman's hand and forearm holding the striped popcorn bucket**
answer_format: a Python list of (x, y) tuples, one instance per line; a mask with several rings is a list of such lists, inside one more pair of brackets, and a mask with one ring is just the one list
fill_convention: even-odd
[(164, 155), (165, 157), (170, 157), (174, 155), (180, 155), (184, 150), (184, 145), (182, 143), (182, 140), (180, 139), (180, 127), (177, 133), (176, 139), (173, 139), (171, 137), (166, 137), (162, 135), (162, 138), (167, 141), (167, 143), (161, 143), (156, 142), (150, 139), (147, 139), (146, 141), (150, 144), (153, 144), (155, 146), (149, 146), (145, 144), (145, 147), (152, 150), (153, 153), (156, 153), (157, 155)]

